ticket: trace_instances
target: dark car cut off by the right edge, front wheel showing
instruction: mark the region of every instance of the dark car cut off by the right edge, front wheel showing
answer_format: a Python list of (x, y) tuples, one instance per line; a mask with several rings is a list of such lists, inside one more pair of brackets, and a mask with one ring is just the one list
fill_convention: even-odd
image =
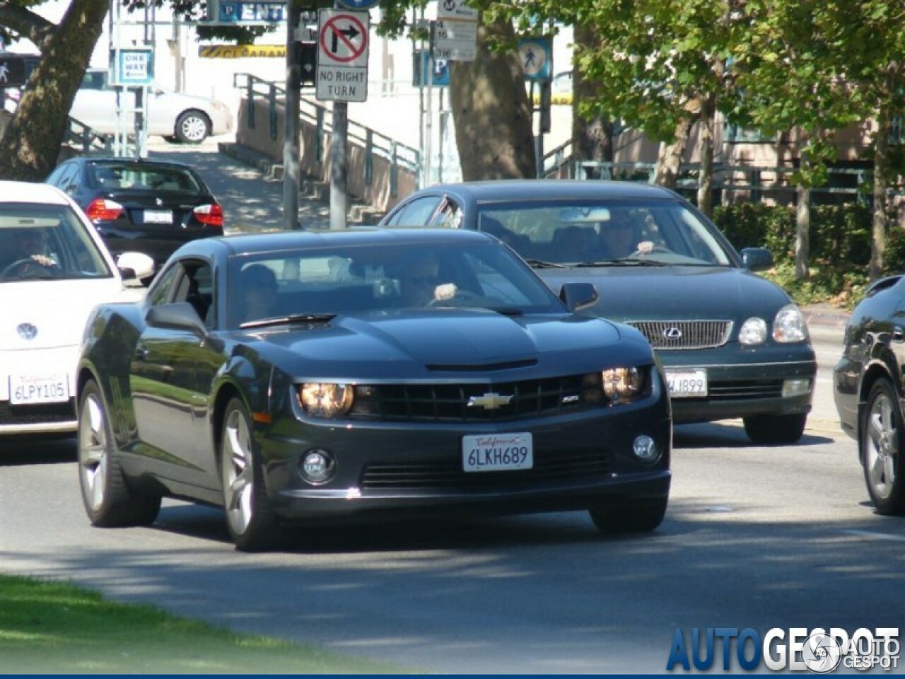
[(877, 512), (905, 515), (905, 276), (875, 282), (852, 312), (843, 355), (834, 368), (834, 399), (843, 431), (858, 442), (858, 459)]

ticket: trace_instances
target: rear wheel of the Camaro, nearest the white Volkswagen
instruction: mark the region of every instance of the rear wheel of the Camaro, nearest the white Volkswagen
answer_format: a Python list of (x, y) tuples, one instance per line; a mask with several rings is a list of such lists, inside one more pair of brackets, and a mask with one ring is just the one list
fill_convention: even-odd
[(107, 406), (93, 380), (81, 391), (78, 449), (81, 502), (92, 525), (147, 526), (157, 519), (160, 496), (135, 492), (122, 473)]

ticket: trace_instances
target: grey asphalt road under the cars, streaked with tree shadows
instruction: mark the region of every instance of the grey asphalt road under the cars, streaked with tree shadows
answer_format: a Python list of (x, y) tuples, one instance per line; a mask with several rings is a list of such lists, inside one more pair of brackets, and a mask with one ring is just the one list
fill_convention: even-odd
[(872, 512), (853, 441), (818, 424), (772, 448), (735, 420), (676, 427), (651, 535), (555, 513), (308, 531), (262, 555), (180, 502), (92, 529), (72, 440), (5, 441), (0, 570), (439, 673), (662, 673), (676, 628), (900, 626), (905, 523)]

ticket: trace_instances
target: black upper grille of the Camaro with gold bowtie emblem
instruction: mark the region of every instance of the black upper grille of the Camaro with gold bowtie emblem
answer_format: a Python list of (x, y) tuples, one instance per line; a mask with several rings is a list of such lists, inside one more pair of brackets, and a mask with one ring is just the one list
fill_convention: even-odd
[[(604, 405), (599, 398), (584, 397), (589, 389), (599, 393), (599, 374), (501, 384), (375, 385), (357, 388), (348, 416), (386, 422), (505, 422)], [(493, 395), (501, 398), (491, 407), (468, 405)], [(509, 403), (501, 402), (508, 397)]]

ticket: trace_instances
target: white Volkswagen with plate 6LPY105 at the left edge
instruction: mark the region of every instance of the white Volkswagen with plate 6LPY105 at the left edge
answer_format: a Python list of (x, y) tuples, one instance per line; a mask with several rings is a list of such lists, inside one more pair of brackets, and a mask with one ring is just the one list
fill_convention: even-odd
[(88, 315), (101, 302), (140, 299), (153, 266), (141, 253), (114, 262), (55, 186), (0, 181), (0, 435), (76, 430)]

